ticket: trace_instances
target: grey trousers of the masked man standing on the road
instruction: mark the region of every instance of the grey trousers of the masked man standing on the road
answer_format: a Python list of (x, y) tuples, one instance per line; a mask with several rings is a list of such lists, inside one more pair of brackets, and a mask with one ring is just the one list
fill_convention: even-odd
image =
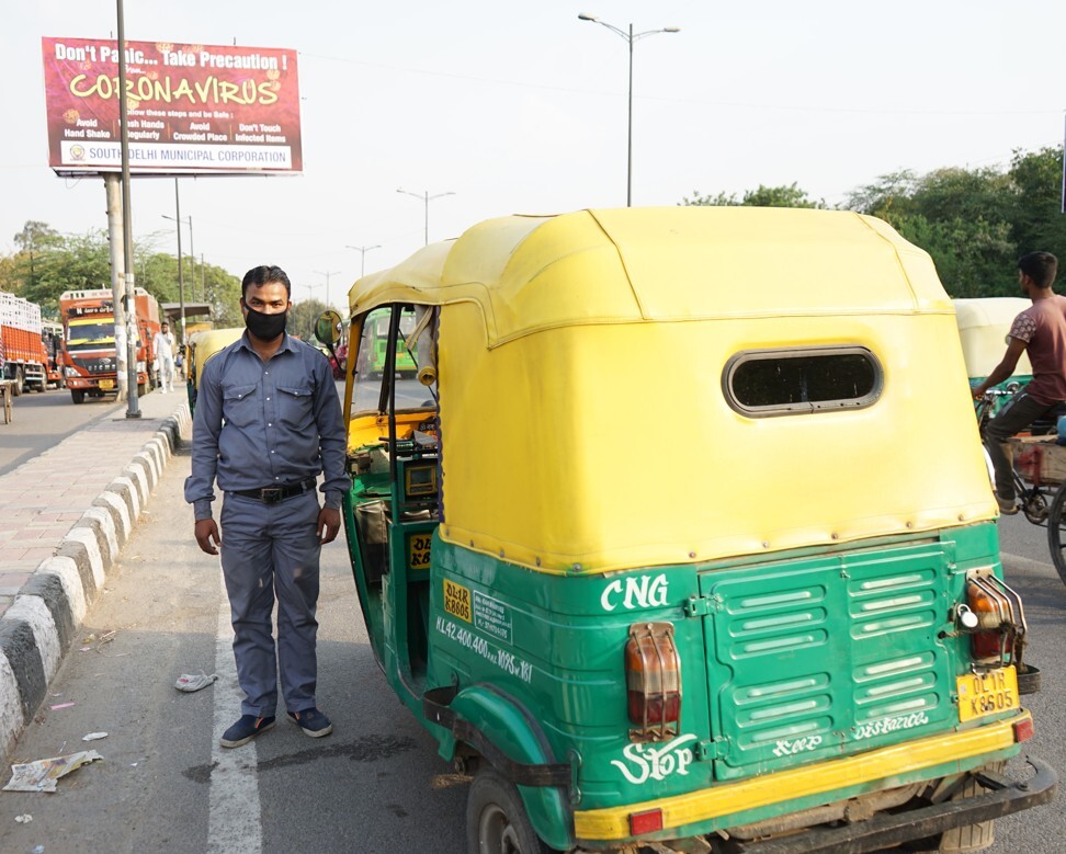
[[(314, 490), (276, 504), (234, 494), (223, 501), (222, 567), (243, 715), (275, 715), (279, 667), (286, 710), (316, 705), (318, 510)], [(271, 625), (275, 595), (276, 653)]]

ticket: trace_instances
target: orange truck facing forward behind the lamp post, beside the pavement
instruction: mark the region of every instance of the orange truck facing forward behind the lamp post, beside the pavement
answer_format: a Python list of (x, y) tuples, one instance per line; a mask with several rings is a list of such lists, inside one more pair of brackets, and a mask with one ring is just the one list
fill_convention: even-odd
[[(137, 314), (137, 394), (155, 386), (152, 340), (159, 331), (159, 303), (138, 287), (134, 291)], [(118, 394), (118, 354), (115, 350), (115, 310), (110, 288), (66, 291), (59, 297), (63, 318), (63, 363), (75, 403), (86, 396)]]

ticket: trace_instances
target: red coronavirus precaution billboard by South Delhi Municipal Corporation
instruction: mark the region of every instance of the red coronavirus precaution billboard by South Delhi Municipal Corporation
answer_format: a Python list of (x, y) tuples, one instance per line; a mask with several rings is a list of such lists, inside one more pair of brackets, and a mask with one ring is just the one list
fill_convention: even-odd
[[(122, 169), (118, 43), (42, 38), (48, 166), (60, 175)], [(296, 52), (126, 42), (129, 171), (303, 171)]]

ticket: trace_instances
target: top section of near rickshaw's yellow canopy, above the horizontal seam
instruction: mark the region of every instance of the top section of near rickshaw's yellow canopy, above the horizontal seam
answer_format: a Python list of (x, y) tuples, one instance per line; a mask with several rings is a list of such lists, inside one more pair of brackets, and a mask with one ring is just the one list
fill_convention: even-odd
[(354, 315), (474, 303), (494, 348), (566, 326), (950, 312), (939, 283), (927, 286), (928, 264), (885, 223), (850, 212), (588, 209), (487, 220), (361, 278), (350, 304)]

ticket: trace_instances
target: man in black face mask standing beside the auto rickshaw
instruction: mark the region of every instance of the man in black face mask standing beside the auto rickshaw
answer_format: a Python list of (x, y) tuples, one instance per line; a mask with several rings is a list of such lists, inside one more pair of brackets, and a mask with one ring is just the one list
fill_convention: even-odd
[[(222, 549), (234, 625), (241, 717), (224, 748), (274, 726), (277, 671), (288, 718), (313, 738), (333, 731), (315, 697), (315, 617), (321, 546), (340, 528), (345, 430), (329, 363), (285, 333), (292, 285), (281, 267), (245, 274), (240, 340), (203, 369), (193, 421), (193, 504), (201, 549)], [(316, 478), (325, 472), (319, 509)], [(212, 517), (215, 478), (225, 492), (222, 531)], [(271, 613), (277, 599), (277, 645)]]

